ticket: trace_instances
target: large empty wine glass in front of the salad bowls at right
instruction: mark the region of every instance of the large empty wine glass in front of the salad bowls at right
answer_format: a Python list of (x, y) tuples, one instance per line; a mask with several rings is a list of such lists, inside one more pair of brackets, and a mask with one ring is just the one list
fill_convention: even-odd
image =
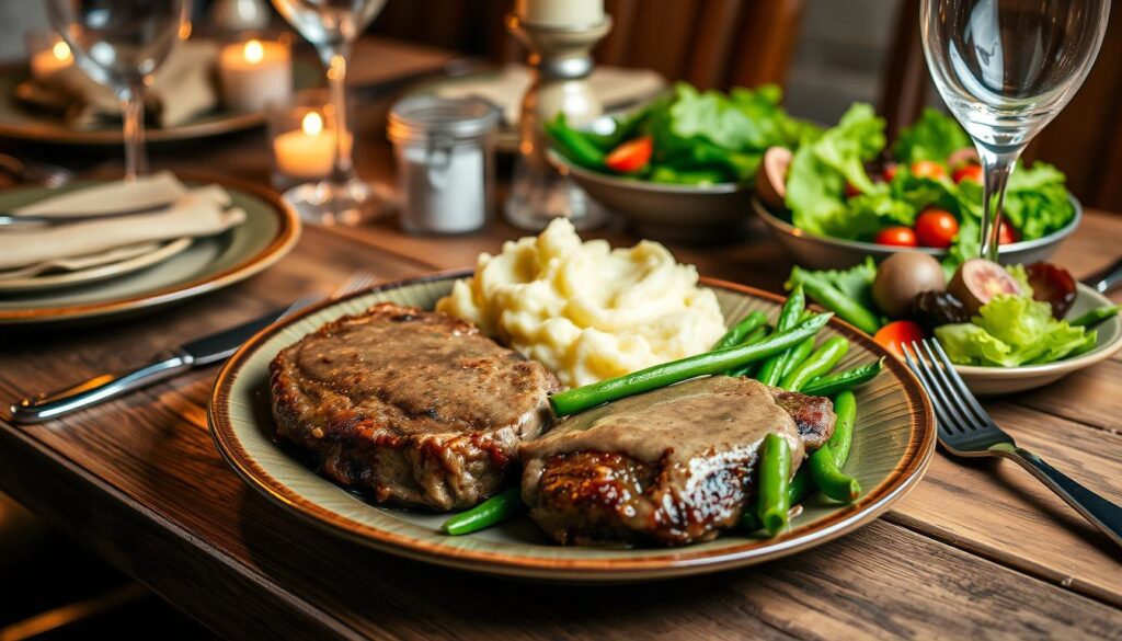
[(922, 0), (927, 66), (985, 172), (982, 256), (997, 259), (1005, 184), (1095, 62), (1110, 0)]

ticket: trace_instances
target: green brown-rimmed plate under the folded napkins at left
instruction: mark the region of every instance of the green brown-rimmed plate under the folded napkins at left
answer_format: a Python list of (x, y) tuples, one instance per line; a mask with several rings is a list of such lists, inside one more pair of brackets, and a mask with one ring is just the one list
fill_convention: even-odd
[[(273, 192), (224, 177), (178, 176), (188, 185), (226, 187), (232, 204), (245, 210), (245, 222), (217, 236), (196, 238), (175, 256), (131, 274), (43, 292), (4, 293), (0, 295), (0, 326), (90, 321), (197, 296), (265, 269), (300, 238), (296, 212)], [(0, 211), (92, 184), (81, 181), (58, 190), (0, 192)]]

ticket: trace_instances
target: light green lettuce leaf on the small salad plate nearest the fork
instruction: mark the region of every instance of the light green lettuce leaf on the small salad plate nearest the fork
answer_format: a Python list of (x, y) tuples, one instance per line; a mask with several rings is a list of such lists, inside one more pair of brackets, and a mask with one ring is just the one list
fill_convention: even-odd
[(1000, 367), (1052, 363), (1089, 349), (1097, 338), (1054, 319), (1046, 302), (1010, 295), (982, 305), (969, 323), (938, 327), (935, 335), (953, 361)]

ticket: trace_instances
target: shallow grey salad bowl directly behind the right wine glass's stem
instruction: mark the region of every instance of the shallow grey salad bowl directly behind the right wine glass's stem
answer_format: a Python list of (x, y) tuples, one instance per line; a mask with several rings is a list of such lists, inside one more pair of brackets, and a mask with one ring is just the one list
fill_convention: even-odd
[[(1075, 207), (1075, 216), (1068, 225), (1041, 238), (1003, 245), (1001, 248), (1001, 263), (1006, 265), (1029, 264), (1047, 260), (1051, 257), (1056, 253), (1056, 249), (1059, 248), (1059, 244), (1076, 230), (1079, 221), (1083, 219), (1083, 207), (1079, 201), (1074, 195), (1068, 198)], [(844, 269), (857, 265), (865, 259), (865, 256), (872, 256), (880, 262), (899, 251), (922, 251), (939, 259), (947, 255), (946, 249), (931, 247), (893, 247), (876, 242), (817, 236), (803, 231), (779, 216), (775, 216), (758, 196), (753, 195), (751, 201), (752, 209), (764, 222), (764, 226), (767, 227), (767, 231), (772, 235), (772, 238), (794, 258), (797, 264), (807, 267), (816, 269)]]

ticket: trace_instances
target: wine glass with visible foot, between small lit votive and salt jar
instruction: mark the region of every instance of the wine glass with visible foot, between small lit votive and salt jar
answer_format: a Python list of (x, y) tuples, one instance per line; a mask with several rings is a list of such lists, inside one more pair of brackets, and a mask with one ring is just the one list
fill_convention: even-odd
[(298, 185), (285, 200), (305, 220), (357, 225), (378, 211), (379, 198), (355, 173), (352, 134), (347, 113), (347, 67), (355, 39), (374, 21), (386, 0), (273, 0), (273, 6), (311, 43), (328, 73), (329, 116), (334, 123), (332, 175), (318, 184)]

